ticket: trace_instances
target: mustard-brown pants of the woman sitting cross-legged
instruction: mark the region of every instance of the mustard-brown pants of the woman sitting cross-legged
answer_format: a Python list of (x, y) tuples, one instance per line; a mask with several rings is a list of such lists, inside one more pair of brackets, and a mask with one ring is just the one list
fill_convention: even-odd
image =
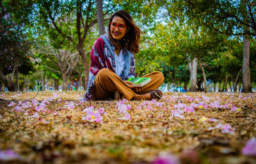
[[(160, 71), (154, 71), (148, 73), (143, 77), (150, 77), (151, 81), (142, 87), (143, 91), (137, 94), (149, 93), (153, 89), (157, 89), (161, 86), (164, 81), (163, 73)], [(93, 99), (94, 100), (108, 100), (113, 98), (114, 91), (118, 91), (122, 94), (122, 99), (130, 100), (136, 94), (129, 87), (129, 84), (124, 82), (115, 72), (109, 70), (108, 68), (103, 68), (95, 77), (95, 87), (93, 89)]]

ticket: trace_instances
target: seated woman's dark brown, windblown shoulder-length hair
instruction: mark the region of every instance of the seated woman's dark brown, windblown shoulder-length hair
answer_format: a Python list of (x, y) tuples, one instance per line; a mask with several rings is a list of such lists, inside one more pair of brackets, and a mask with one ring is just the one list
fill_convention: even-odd
[[(111, 27), (110, 23), (112, 22), (114, 17), (121, 17), (122, 19), (125, 20), (126, 25), (127, 25), (127, 33), (125, 34), (124, 38), (122, 40), (117, 41), (111, 36)], [(121, 47), (127, 47), (127, 49), (132, 52), (133, 54), (136, 54), (140, 51), (139, 49), (139, 43), (140, 43), (140, 29), (137, 27), (133, 20), (132, 17), (127, 11), (125, 10), (119, 10), (113, 13), (111, 18), (109, 19), (109, 24), (108, 24), (108, 36), (110, 40), (114, 43), (114, 45), (121, 45)]]

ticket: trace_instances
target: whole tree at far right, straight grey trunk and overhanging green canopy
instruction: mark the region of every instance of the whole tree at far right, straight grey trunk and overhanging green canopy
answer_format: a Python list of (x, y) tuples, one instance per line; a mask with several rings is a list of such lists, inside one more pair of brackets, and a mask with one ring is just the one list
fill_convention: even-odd
[(251, 0), (186, 0), (187, 14), (219, 33), (244, 37), (243, 92), (251, 92), (250, 36), (256, 36), (256, 8)]

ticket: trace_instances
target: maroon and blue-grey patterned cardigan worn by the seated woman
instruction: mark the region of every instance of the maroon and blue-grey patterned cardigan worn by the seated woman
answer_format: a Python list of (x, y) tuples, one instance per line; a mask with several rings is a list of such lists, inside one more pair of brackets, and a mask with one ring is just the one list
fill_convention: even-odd
[[(86, 93), (84, 94), (85, 101), (92, 100), (92, 89), (95, 86), (94, 79), (102, 68), (108, 68), (109, 70), (116, 72), (114, 53), (115, 47), (109, 40), (108, 34), (100, 36), (95, 41), (90, 54), (91, 64), (88, 86)], [(120, 78), (122, 78), (122, 80), (127, 80), (128, 78), (136, 77), (134, 55), (129, 52), (127, 48), (123, 49), (123, 54), (125, 59), (125, 66), (124, 70), (122, 70)]]

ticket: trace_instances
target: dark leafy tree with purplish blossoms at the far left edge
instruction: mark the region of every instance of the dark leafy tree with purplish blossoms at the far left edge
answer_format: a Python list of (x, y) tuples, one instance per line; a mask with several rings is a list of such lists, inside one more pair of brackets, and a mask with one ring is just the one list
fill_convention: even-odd
[(12, 15), (6, 13), (2, 5), (1, 7), (1, 15), (4, 17), (1, 17), (0, 31), (0, 78), (9, 91), (15, 91), (18, 89), (14, 84), (15, 73), (18, 77), (19, 72), (28, 74), (29, 71), (33, 71), (33, 65), (29, 60), (31, 44), (27, 40), (22, 26), (16, 24)]

